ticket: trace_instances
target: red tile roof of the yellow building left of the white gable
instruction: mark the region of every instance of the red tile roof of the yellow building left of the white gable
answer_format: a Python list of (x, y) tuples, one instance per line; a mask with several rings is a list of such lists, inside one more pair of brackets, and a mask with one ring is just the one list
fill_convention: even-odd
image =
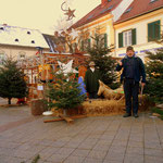
[(110, 13), (112, 10), (114, 10), (122, 0), (112, 0), (110, 2), (106, 2), (104, 5), (99, 4), (97, 8), (95, 8), (92, 11), (90, 11), (87, 15), (85, 15), (83, 18), (80, 18), (78, 22), (73, 24), (71, 28), (77, 28), (82, 25), (85, 25), (87, 23), (90, 23), (99, 17), (104, 16), (105, 14)]

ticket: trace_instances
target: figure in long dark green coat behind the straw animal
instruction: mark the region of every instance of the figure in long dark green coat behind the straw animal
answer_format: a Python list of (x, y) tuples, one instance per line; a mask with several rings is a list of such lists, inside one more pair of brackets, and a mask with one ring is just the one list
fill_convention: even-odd
[(98, 98), (100, 73), (95, 68), (95, 62), (91, 61), (85, 75), (86, 90), (89, 93), (89, 99)]

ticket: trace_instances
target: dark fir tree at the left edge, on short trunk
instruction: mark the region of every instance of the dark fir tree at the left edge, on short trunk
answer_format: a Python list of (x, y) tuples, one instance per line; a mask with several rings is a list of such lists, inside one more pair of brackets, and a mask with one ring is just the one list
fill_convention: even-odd
[(11, 104), (12, 98), (27, 96), (24, 73), (17, 67), (16, 63), (12, 58), (7, 58), (0, 67), (0, 97), (8, 98), (9, 104)]

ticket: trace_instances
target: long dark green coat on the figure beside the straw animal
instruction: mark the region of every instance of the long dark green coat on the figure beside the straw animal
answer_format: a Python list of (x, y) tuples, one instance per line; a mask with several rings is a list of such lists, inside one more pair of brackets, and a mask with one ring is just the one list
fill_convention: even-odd
[(87, 70), (85, 75), (85, 84), (87, 92), (98, 92), (99, 89), (100, 72), (95, 68), (92, 72), (90, 68)]

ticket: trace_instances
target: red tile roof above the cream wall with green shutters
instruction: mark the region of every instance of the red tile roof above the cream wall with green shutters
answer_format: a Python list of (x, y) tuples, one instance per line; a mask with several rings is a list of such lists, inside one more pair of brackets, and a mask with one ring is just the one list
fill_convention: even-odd
[(118, 24), (136, 16), (147, 14), (148, 12), (160, 8), (163, 8), (163, 0), (155, 0), (153, 2), (151, 2), (151, 0), (134, 0), (134, 2), (126, 10), (128, 12), (124, 12), (114, 24)]

